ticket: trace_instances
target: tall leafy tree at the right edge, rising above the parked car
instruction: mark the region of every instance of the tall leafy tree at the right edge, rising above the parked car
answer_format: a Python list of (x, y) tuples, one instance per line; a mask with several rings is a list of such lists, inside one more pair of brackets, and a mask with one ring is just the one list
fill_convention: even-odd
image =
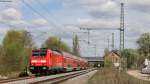
[(142, 34), (137, 44), (140, 55), (150, 59), (150, 33)]

